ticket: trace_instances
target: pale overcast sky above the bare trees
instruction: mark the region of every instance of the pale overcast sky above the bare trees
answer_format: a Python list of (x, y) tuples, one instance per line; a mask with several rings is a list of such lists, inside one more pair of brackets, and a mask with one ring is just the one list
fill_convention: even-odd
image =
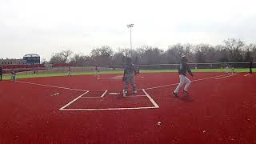
[(41, 58), (61, 50), (90, 54), (98, 46), (256, 42), (254, 0), (0, 0), (0, 58)]

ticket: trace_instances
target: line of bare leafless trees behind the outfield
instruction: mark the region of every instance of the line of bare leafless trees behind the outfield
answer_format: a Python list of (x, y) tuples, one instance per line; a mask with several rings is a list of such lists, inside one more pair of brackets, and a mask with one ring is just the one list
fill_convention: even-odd
[(241, 39), (226, 39), (222, 45), (210, 44), (175, 44), (161, 50), (153, 46), (140, 46), (132, 51), (119, 48), (114, 51), (110, 46), (96, 47), (90, 54), (73, 54), (71, 50), (54, 53), (51, 64), (71, 64), (72, 66), (119, 66), (124, 65), (131, 54), (134, 64), (176, 64), (186, 54), (189, 62), (250, 62), (256, 58), (256, 44), (246, 44)]

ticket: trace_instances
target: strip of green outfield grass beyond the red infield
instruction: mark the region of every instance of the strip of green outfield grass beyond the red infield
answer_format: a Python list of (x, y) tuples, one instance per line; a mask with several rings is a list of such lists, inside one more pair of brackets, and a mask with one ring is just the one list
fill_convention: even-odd
[[(193, 72), (224, 72), (223, 69), (198, 69), (192, 70)], [(231, 71), (231, 70), (229, 70)], [(256, 69), (253, 70), (256, 72)], [(173, 73), (178, 72), (178, 70), (140, 70), (140, 73)], [(234, 72), (249, 72), (249, 69), (235, 69)], [(84, 72), (74, 72), (72, 75), (87, 75), (95, 74), (94, 71), (84, 71)], [(123, 70), (103, 70), (99, 74), (123, 74)], [(38, 77), (55, 77), (55, 76), (66, 76), (67, 72), (56, 72), (56, 73), (42, 73), (38, 71), (38, 74), (24, 74), (18, 73), (16, 78), (38, 78)], [(4, 74), (3, 79), (10, 79), (10, 74)]]

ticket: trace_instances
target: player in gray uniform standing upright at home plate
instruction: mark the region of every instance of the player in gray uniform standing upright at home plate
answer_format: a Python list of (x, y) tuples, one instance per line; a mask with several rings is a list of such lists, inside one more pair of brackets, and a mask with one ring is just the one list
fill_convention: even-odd
[(123, 96), (126, 96), (126, 94), (128, 94), (129, 83), (133, 87), (133, 93), (134, 94), (137, 93), (136, 85), (134, 82), (134, 75), (137, 74), (135, 66), (134, 66), (131, 58), (127, 58), (126, 61), (127, 61), (127, 63), (125, 66), (125, 70), (123, 72), (123, 77), (122, 77), (122, 82), (125, 83), (125, 90), (123, 91)]

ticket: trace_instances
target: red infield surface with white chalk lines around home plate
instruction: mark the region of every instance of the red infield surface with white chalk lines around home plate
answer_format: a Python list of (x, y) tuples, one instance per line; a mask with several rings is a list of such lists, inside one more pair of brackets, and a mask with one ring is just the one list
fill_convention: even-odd
[(256, 76), (141, 74), (122, 97), (120, 75), (0, 83), (0, 143), (256, 143)]

